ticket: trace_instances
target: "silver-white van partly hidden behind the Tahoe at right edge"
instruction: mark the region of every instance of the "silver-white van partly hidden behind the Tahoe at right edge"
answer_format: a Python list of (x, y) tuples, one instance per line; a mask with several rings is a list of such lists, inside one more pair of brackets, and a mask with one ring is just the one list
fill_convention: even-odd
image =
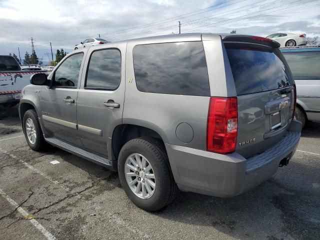
[(295, 117), (320, 121), (320, 46), (281, 48), (296, 84)]

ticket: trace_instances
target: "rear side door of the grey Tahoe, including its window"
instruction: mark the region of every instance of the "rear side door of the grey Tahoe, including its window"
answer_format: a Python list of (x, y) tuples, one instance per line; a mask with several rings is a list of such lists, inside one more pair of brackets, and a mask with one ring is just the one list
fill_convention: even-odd
[(107, 157), (108, 139), (122, 123), (125, 43), (108, 43), (87, 54), (78, 91), (79, 136), (84, 148)]

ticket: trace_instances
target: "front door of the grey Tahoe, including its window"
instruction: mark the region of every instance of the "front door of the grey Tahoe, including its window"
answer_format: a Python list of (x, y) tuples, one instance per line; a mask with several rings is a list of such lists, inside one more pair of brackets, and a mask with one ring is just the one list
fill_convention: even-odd
[(70, 55), (55, 69), (51, 86), (41, 90), (43, 125), (53, 137), (81, 145), (77, 134), (76, 101), (83, 52)]

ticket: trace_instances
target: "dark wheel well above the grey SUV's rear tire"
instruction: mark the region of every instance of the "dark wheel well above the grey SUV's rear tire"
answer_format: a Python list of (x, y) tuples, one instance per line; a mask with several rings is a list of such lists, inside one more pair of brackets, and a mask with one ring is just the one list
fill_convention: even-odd
[(164, 145), (161, 136), (154, 130), (132, 124), (121, 124), (114, 128), (112, 134), (112, 158), (117, 159), (121, 147), (129, 140), (141, 137), (150, 136), (160, 140)]

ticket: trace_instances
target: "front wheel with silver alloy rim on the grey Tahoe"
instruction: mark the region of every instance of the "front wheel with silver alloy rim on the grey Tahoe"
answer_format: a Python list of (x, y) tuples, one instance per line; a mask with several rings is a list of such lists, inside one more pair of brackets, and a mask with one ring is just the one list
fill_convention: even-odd
[(23, 132), (29, 147), (39, 151), (46, 146), (38, 116), (34, 109), (27, 110), (23, 115)]

